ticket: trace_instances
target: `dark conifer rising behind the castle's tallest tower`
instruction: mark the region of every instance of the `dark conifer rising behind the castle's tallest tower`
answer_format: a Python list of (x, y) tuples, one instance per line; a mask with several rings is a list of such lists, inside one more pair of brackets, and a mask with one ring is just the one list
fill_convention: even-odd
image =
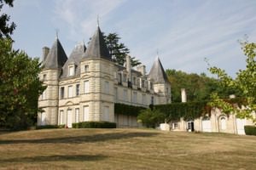
[[(130, 53), (129, 48), (124, 43), (119, 42), (121, 39), (117, 33), (109, 33), (108, 36), (103, 34), (103, 38), (107, 44), (109, 54), (111, 55), (114, 62), (119, 65), (125, 64), (125, 56)], [(131, 66), (140, 65), (141, 62), (135, 57), (131, 57)]]

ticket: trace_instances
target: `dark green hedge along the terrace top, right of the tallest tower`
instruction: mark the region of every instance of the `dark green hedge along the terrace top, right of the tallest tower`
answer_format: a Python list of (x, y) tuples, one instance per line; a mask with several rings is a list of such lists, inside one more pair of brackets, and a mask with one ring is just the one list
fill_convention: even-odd
[(138, 114), (147, 108), (142, 106), (125, 105), (125, 104), (114, 104), (115, 115), (126, 115), (126, 116), (138, 116)]

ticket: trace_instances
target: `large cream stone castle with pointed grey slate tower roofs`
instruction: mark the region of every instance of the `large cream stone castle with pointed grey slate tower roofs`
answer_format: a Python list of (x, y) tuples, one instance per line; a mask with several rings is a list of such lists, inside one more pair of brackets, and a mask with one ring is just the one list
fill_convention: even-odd
[(38, 99), (38, 125), (72, 127), (73, 122), (116, 122), (137, 127), (136, 117), (115, 116), (114, 103), (148, 107), (171, 102), (171, 84), (157, 57), (146, 74), (144, 65), (131, 67), (113, 62), (99, 26), (88, 48), (77, 45), (69, 58), (58, 38), (43, 48), (44, 69), (39, 74), (47, 88)]

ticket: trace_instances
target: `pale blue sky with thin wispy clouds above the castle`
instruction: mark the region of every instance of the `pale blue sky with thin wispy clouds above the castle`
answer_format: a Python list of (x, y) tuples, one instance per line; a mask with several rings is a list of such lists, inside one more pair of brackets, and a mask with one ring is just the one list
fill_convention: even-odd
[(15, 0), (3, 13), (17, 25), (14, 48), (41, 57), (56, 31), (67, 56), (96, 31), (116, 32), (149, 72), (157, 51), (165, 69), (236, 77), (245, 68), (238, 40), (256, 42), (255, 0)]

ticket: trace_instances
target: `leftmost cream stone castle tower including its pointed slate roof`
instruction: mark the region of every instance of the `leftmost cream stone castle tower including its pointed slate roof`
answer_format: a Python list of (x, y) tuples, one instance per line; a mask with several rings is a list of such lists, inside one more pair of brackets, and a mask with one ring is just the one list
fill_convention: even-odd
[(47, 88), (38, 99), (38, 107), (44, 111), (38, 114), (38, 125), (55, 125), (58, 122), (59, 77), (61, 68), (67, 61), (67, 55), (58, 38), (50, 49), (43, 48), (43, 50), (44, 69), (39, 77)]

